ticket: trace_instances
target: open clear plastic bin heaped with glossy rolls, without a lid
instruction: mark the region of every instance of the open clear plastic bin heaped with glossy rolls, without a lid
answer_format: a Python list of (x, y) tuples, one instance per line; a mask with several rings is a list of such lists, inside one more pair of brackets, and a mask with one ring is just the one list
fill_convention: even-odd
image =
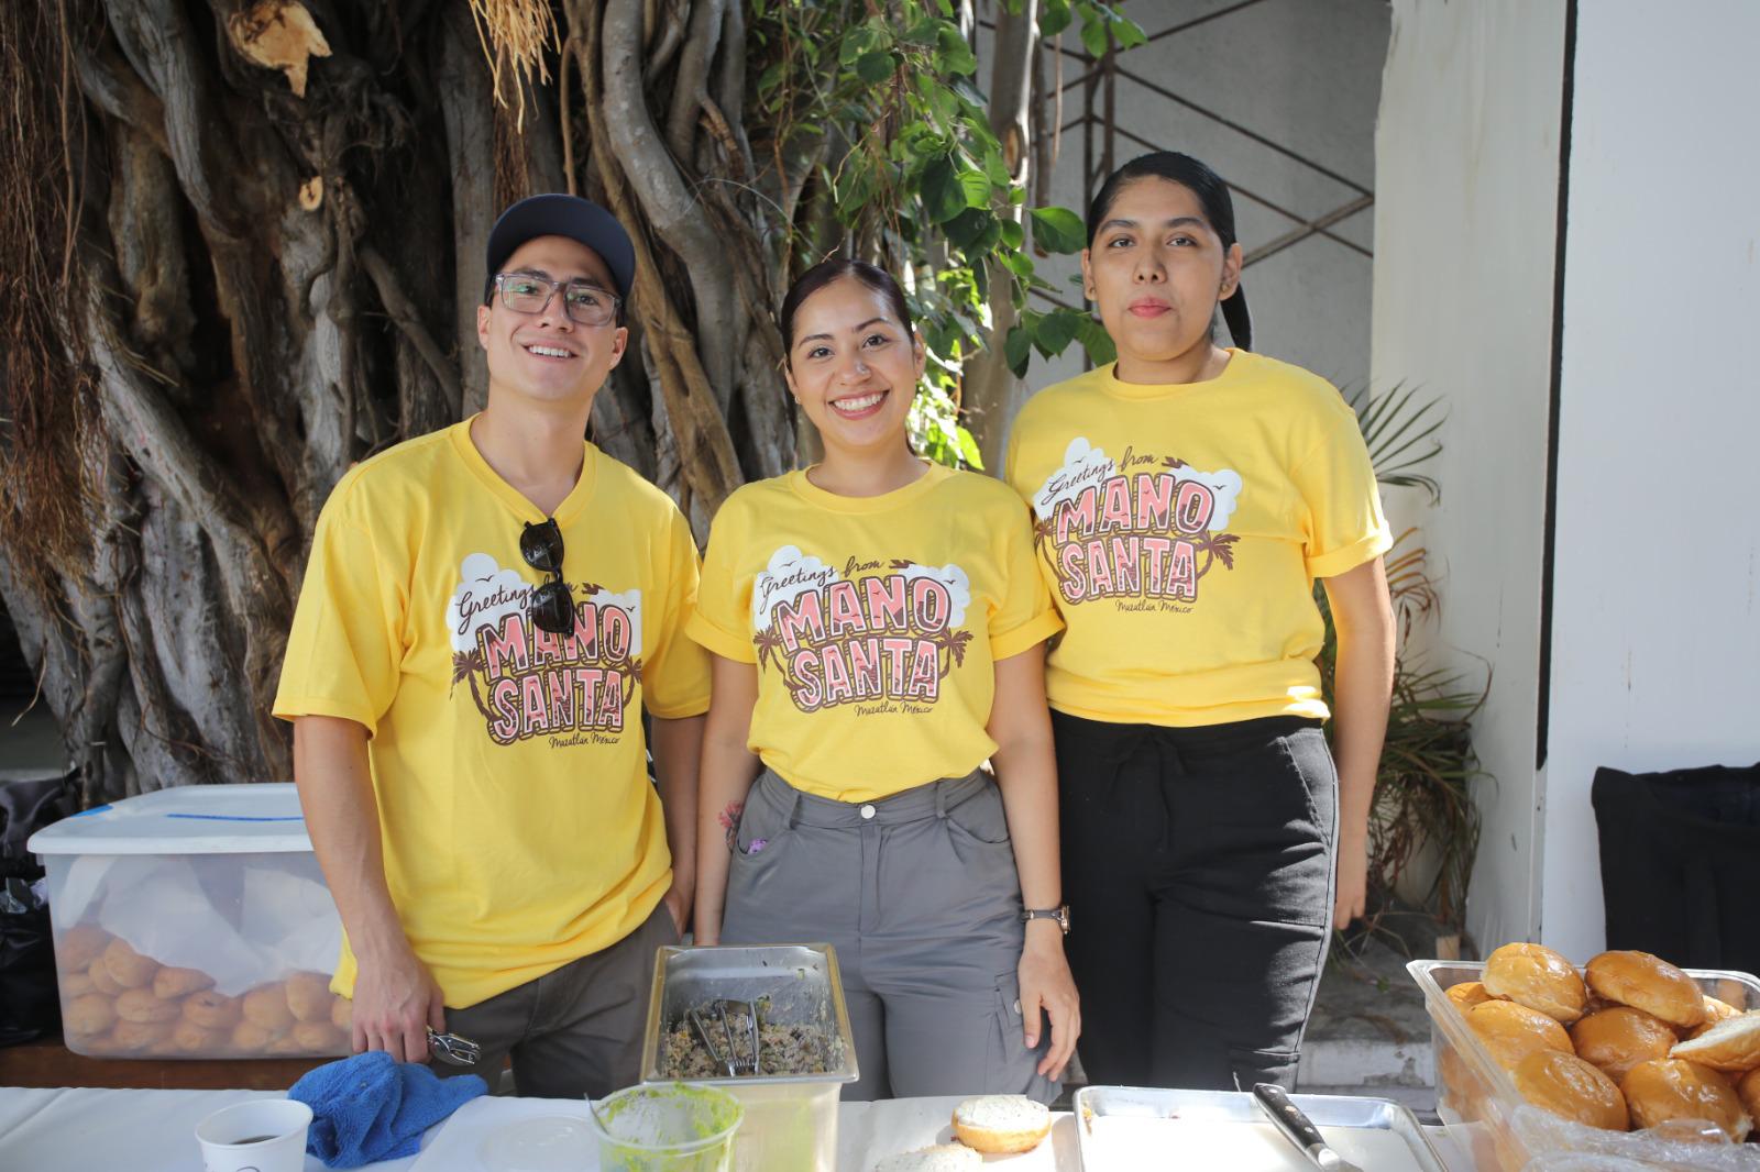
[[(1461, 1151), (1470, 1151), (1482, 1172), (1501, 1168), (1579, 1167), (1566, 1156), (1605, 1161), (1607, 1168), (1753, 1168), (1760, 1172), (1760, 1146), (1684, 1142), (1649, 1132), (1603, 1132), (1561, 1119), (1528, 1103), (1510, 1072), (1491, 1058), (1447, 989), (1480, 980), (1484, 961), (1412, 961), (1406, 971), (1424, 991), (1436, 1051), (1436, 1114)], [(1580, 966), (1579, 966), (1579, 971)], [(1739, 1010), (1760, 1008), (1760, 980), (1748, 973), (1684, 970), (1707, 994)], [(1621, 1161), (1644, 1161), (1640, 1165)]]

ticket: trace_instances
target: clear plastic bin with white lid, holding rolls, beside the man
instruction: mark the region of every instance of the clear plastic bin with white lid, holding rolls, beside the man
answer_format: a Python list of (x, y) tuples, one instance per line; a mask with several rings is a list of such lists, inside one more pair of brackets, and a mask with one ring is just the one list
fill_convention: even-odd
[(341, 924), (290, 783), (201, 785), (32, 836), (67, 1049), (99, 1058), (348, 1052)]

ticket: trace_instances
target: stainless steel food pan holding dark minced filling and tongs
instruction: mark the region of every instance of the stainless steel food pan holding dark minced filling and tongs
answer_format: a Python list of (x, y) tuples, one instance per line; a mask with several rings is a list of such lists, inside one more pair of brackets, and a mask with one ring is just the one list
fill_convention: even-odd
[(838, 954), (831, 945), (664, 945), (655, 954), (655, 980), (648, 996), (642, 1082), (660, 1079), (664, 1035), (685, 1017), (686, 1008), (715, 998), (769, 998), (767, 1021), (818, 1026), (832, 1038), (832, 1058), (841, 1051), (841, 1061), (817, 1075), (759, 1073), (704, 1082), (855, 1082), (861, 1077)]

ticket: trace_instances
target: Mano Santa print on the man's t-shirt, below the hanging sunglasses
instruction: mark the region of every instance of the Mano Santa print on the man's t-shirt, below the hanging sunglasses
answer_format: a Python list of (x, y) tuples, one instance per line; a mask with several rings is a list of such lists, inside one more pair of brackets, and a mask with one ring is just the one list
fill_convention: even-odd
[(549, 736), (560, 746), (579, 743), (570, 734), (621, 732), (642, 670), (642, 591), (577, 584), (576, 625), (565, 635), (532, 621), (532, 593), (519, 570), (493, 556), (465, 558), (447, 609), (454, 686), (470, 686), (496, 744)]

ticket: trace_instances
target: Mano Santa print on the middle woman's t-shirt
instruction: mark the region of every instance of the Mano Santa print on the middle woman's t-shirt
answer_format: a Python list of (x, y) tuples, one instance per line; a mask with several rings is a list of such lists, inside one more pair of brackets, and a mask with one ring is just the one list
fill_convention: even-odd
[(862, 716), (928, 711), (972, 642), (966, 572), (850, 558), (845, 574), (857, 572), (868, 575), (852, 581), (794, 546), (778, 549), (752, 590), (759, 665), (778, 662), (803, 713), (836, 704), (859, 704)]

